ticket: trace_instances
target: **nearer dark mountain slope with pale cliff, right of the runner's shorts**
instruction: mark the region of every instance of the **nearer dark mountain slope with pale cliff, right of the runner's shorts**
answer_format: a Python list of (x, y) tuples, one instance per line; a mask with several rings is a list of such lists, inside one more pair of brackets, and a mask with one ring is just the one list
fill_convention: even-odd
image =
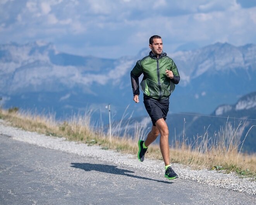
[[(184, 124), (185, 119), (185, 124)], [(244, 126), (244, 131), (241, 140), (248, 133), (243, 145), (243, 150), (247, 152), (256, 152), (256, 92), (242, 96), (235, 104), (224, 104), (218, 106), (209, 116), (201, 116), (198, 114), (169, 114), (167, 123), (170, 125), (171, 138), (174, 138), (174, 128), (176, 137), (183, 137), (183, 130), (186, 133), (186, 138), (192, 139), (194, 136), (208, 135), (212, 137), (214, 133), (220, 130), (220, 127), (229, 128), (239, 127), (239, 130)], [(241, 125), (239, 126), (239, 123)], [(255, 125), (255, 126), (254, 126)], [(185, 129), (184, 129), (185, 128)], [(207, 129), (208, 128), (208, 129)]]

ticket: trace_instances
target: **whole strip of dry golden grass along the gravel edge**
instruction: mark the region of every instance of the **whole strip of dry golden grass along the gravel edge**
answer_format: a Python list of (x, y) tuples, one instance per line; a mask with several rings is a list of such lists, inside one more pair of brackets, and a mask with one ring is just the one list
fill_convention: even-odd
[[(124, 116), (125, 117), (125, 116)], [(91, 126), (91, 112), (83, 115), (74, 115), (69, 121), (58, 122), (54, 115), (43, 116), (17, 110), (0, 109), (0, 118), (9, 121), (12, 126), (24, 130), (43, 133), (46, 135), (65, 137), (69, 140), (76, 140), (88, 145), (101, 145), (102, 149), (115, 149), (120, 152), (137, 154), (137, 140), (145, 137), (146, 125), (137, 123), (134, 127), (133, 137), (127, 134), (127, 126), (131, 119), (128, 118), (124, 137), (120, 136), (120, 124), (113, 129), (112, 143), (103, 129), (95, 129)], [(122, 123), (122, 121), (120, 122)], [(123, 122), (124, 123), (124, 122)], [(256, 155), (247, 155), (240, 152), (239, 147), (243, 144), (241, 136), (245, 124), (240, 123), (237, 128), (226, 123), (213, 137), (206, 132), (203, 136), (196, 136), (193, 142), (187, 139), (176, 139), (170, 148), (171, 162), (180, 162), (196, 168), (225, 169), (227, 172), (256, 176)], [(158, 145), (150, 145), (147, 157), (162, 159)]]

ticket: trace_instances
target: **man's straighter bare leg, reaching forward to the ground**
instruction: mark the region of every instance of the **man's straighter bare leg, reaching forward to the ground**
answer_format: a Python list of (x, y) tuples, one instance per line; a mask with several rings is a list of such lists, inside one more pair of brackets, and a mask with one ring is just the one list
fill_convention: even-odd
[(156, 121), (156, 127), (160, 132), (160, 150), (162, 153), (165, 166), (170, 164), (170, 149), (169, 149), (169, 130), (168, 126), (163, 118)]

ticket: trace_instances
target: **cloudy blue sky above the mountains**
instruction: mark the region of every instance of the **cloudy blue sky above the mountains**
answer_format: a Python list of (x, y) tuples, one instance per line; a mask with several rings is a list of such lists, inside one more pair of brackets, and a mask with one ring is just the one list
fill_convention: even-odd
[[(120, 58), (216, 42), (256, 43), (256, 0), (0, 0), (0, 44), (45, 41), (58, 51)], [(149, 48), (148, 48), (149, 49)]]

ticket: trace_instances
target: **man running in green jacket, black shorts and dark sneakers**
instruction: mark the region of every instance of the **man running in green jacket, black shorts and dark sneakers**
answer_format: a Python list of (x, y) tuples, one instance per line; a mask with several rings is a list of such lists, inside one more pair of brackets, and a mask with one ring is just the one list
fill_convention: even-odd
[[(169, 109), (169, 96), (174, 91), (175, 84), (180, 81), (179, 72), (174, 61), (163, 52), (163, 42), (160, 36), (151, 36), (149, 39), (148, 56), (138, 60), (131, 71), (133, 100), (139, 102), (139, 87), (143, 92), (145, 108), (152, 120), (153, 126), (145, 141), (139, 140), (139, 161), (144, 161), (148, 146), (160, 134), (160, 150), (165, 162), (165, 177), (178, 178), (170, 166), (169, 131), (165, 122)], [(139, 85), (139, 76), (144, 77)]]

